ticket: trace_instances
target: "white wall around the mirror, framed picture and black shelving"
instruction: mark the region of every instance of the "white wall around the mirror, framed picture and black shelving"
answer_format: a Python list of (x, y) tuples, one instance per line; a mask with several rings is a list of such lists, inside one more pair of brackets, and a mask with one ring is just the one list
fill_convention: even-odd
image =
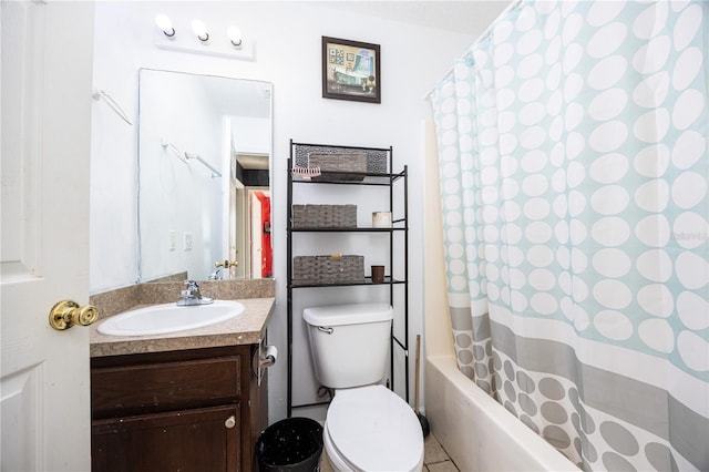
[[(482, 7), (481, 7), (482, 8)], [(500, 7), (496, 7), (500, 9)], [(199, 17), (213, 31), (237, 23), (256, 41), (254, 61), (158, 50), (154, 18), (168, 14), (177, 33)], [(274, 83), (274, 260), (277, 305), (269, 342), (287, 352), (286, 160), (299, 142), (394, 148), (395, 167), (410, 175), (410, 339), (422, 332), (423, 167), (421, 123), (428, 92), (480, 31), (425, 29), (345, 13), (305, 2), (97, 2), (94, 84), (137, 121), (140, 68), (255, 79)], [(321, 37), (381, 45), (381, 104), (321, 98)], [(177, 98), (176, 98), (177, 99)], [(136, 277), (136, 126), (94, 104), (91, 195), (91, 289), (131, 285)], [(315, 296), (314, 296), (315, 297)], [(410, 342), (413, 346), (413, 342)], [(413, 359), (413, 356), (412, 356)], [(410, 366), (413, 371), (413, 362)], [(310, 367), (296, 366), (298, 372)], [(308, 373), (309, 376), (309, 373)], [(285, 415), (286, 362), (270, 369), (270, 420)], [(413, 376), (411, 376), (413, 381)]]

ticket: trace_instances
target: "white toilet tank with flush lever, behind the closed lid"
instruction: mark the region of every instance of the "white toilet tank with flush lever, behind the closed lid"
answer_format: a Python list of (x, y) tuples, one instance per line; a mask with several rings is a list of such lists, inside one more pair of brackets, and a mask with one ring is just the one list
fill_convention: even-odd
[(302, 318), (315, 374), (325, 387), (361, 387), (384, 377), (393, 318), (389, 304), (311, 307)]

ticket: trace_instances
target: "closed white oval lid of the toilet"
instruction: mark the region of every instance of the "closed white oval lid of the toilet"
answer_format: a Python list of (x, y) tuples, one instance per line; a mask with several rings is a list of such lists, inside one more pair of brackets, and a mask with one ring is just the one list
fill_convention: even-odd
[(338, 451), (364, 471), (412, 471), (423, 455), (415, 413), (383, 386), (338, 390), (326, 428)]

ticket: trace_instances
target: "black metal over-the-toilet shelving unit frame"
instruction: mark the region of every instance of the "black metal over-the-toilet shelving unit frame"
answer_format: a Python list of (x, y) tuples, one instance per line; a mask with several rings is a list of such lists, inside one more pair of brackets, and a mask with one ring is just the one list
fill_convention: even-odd
[[(350, 150), (350, 151), (364, 151), (364, 152), (376, 152), (376, 153), (384, 153), (387, 156), (387, 171), (386, 172), (366, 172), (366, 173), (352, 173), (352, 172), (328, 172), (326, 176), (318, 177), (315, 179), (306, 179), (299, 175), (295, 175), (291, 173), (294, 165), (296, 163), (296, 158), (294, 155), (295, 150), (298, 146), (305, 147), (318, 147), (318, 148), (330, 148), (330, 150)], [(405, 391), (405, 400), (409, 401), (409, 188), (408, 188), (408, 167), (404, 165), (401, 172), (393, 172), (393, 148), (379, 148), (379, 147), (359, 147), (359, 146), (338, 146), (338, 145), (327, 145), (327, 144), (312, 144), (312, 143), (296, 143), (292, 140), (290, 141), (290, 156), (288, 158), (288, 217), (287, 217), (287, 310), (288, 310), (288, 418), (292, 415), (292, 410), (296, 408), (307, 408), (315, 407), (320, 404), (327, 404), (327, 402), (318, 402), (318, 403), (308, 403), (308, 404), (294, 404), (292, 403), (292, 342), (294, 342), (294, 295), (300, 288), (322, 288), (327, 289), (328, 287), (348, 287), (348, 286), (378, 286), (382, 285), (389, 286), (389, 302), (394, 306), (395, 296), (394, 296), (394, 287), (401, 286), (403, 288), (403, 294), (398, 297), (401, 298), (401, 304), (403, 305), (403, 339), (399, 339), (394, 332), (394, 324), (392, 322), (391, 327), (391, 346), (390, 346), (390, 388), (393, 390), (394, 388), (394, 348), (398, 347), (403, 352), (404, 359), (404, 391)], [(354, 177), (354, 178), (352, 178)], [(350, 179), (347, 179), (350, 178)], [(371, 186), (384, 186), (389, 187), (389, 211), (392, 214), (392, 226), (390, 228), (372, 228), (372, 227), (357, 227), (357, 228), (294, 228), (291, 220), (291, 208), (294, 204), (294, 192), (295, 187), (298, 185), (326, 185), (326, 186), (337, 186), (337, 185), (371, 185)], [(403, 207), (394, 208), (394, 186), (402, 185), (403, 188), (400, 191), (403, 192)], [(328, 191), (327, 188), (325, 191)], [(400, 217), (397, 218), (397, 216)], [(389, 270), (391, 275), (393, 275), (394, 268), (394, 252), (400, 250), (401, 256), (403, 256), (402, 260), (402, 274), (403, 278), (393, 278), (391, 275), (384, 277), (384, 281), (380, 284), (373, 284), (371, 277), (366, 277), (362, 283), (346, 283), (346, 284), (296, 284), (292, 279), (292, 245), (294, 237), (300, 234), (317, 234), (317, 233), (383, 233), (389, 235)], [(399, 248), (397, 242), (394, 240), (394, 235), (401, 234), (402, 242), (399, 243), (403, 247)], [(300, 236), (298, 236), (300, 237)]]

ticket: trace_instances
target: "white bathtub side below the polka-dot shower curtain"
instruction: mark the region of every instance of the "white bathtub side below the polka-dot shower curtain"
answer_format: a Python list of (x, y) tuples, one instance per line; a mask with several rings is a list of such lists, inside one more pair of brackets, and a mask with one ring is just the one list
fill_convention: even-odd
[(461, 373), (453, 356), (425, 360), (425, 415), (462, 472), (578, 471)]

